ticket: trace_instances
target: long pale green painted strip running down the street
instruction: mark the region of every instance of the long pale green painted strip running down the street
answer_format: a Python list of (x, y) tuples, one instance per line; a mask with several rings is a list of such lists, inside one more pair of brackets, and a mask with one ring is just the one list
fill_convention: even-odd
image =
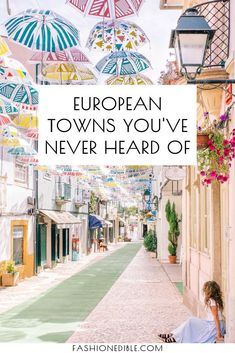
[(0, 342), (66, 342), (140, 248), (140, 243), (127, 244), (39, 298), (2, 314)]

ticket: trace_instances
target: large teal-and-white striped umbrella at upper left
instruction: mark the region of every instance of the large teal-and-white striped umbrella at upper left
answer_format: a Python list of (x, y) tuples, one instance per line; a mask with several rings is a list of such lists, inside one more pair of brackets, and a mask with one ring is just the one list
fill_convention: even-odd
[(12, 16), (5, 27), (11, 39), (32, 50), (55, 52), (79, 44), (78, 30), (51, 10), (28, 9)]

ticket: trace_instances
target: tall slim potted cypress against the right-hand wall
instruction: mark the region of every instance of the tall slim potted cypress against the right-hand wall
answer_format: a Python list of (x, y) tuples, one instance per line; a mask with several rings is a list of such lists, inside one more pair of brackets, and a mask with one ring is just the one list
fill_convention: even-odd
[(166, 212), (166, 219), (169, 224), (169, 230), (168, 230), (169, 256), (168, 256), (168, 259), (169, 259), (170, 264), (175, 264), (176, 263), (177, 246), (178, 246), (178, 237), (180, 235), (180, 229), (179, 229), (180, 219), (179, 219), (178, 214), (175, 210), (175, 203), (173, 202), (173, 204), (171, 205), (170, 200), (168, 200), (166, 207), (165, 207), (165, 212)]

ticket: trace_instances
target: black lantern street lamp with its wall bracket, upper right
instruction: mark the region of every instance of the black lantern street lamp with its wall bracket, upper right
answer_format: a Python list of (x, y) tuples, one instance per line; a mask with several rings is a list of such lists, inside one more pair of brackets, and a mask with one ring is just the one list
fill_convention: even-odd
[[(215, 30), (211, 29), (204, 16), (196, 8), (189, 8), (180, 16), (177, 27), (171, 31), (170, 48), (176, 52), (181, 73), (191, 84), (235, 83), (234, 79), (195, 80), (204, 66), (207, 49), (210, 48)], [(221, 63), (223, 66), (224, 63)]]

